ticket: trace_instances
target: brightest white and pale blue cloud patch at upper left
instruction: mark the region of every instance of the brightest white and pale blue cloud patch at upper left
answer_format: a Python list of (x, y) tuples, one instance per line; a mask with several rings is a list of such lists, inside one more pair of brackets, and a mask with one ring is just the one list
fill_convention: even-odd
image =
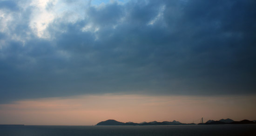
[(78, 0), (65, 3), (61, 0), (33, 0), (30, 3), (33, 7), (29, 26), (34, 33), (41, 38), (50, 38), (47, 27), (53, 21), (64, 21), (75, 23), (86, 17), (86, 9), (89, 0)]

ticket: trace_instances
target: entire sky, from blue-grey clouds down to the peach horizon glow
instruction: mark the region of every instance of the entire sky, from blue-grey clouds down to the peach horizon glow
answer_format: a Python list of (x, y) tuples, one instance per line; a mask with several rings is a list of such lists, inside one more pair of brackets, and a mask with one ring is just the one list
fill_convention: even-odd
[(0, 124), (256, 119), (255, 0), (0, 0)]

